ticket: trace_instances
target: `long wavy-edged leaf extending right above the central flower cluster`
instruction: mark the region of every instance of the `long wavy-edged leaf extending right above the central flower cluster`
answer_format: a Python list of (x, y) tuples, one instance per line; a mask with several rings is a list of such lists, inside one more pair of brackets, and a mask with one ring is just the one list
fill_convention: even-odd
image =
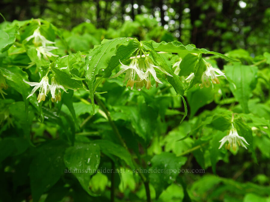
[(153, 47), (155, 48), (156, 51), (163, 51), (163, 52), (170, 52), (170, 53), (197, 53), (197, 54), (214, 54), (218, 55), (220, 57), (223, 57), (226, 60), (229, 60), (231, 62), (239, 62), (238, 60), (233, 60), (221, 53), (217, 53), (214, 51), (208, 51), (205, 48), (196, 48), (194, 45), (183, 45), (179, 41), (173, 41), (173, 42), (165, 42), (162, 41), (160, 43), (154, 42), (153, 41)]

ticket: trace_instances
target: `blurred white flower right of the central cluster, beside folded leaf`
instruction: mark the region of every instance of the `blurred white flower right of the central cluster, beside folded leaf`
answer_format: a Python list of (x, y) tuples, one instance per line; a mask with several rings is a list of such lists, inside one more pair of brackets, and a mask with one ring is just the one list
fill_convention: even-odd
[(215, 84), (220, 83), (218, 78), (217, 78), (219, 76), (223, 76), (227, 79), (225, 74), (223, 72), (221, 72), (220, 69), (212, 67), (212, 65), (210, 63), (206, 63), (206, 70), (202, 74), (202, 84), (200, 84), (201, 88), (203, 87), (203, 85), (205, 85), (205, 87), (210, 86), (209, 79), (211, 79), (211, 81)]

